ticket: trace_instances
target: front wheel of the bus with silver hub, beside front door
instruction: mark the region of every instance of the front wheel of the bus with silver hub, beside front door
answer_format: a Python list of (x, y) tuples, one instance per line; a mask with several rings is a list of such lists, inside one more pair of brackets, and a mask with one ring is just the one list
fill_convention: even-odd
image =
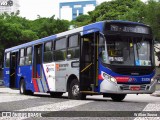
[(80, 93), (79, 90), (79, 82), (77, 79), (72, 80), (69, 91), (68, 91), (68, 97), (70, 99), (75, 99), (75, 100), (84, 100), (86, 99), (86, 95)]

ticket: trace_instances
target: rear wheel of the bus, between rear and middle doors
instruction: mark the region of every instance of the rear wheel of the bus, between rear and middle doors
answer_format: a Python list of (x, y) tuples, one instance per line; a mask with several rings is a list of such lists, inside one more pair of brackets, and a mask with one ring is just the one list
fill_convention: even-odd
[(26, 90), (26, 84), (24, 79), (21, 79), (20, 81), (20, 94), (24, 94), (24, 95), (33, 95), (33, 92), (31, 90)]

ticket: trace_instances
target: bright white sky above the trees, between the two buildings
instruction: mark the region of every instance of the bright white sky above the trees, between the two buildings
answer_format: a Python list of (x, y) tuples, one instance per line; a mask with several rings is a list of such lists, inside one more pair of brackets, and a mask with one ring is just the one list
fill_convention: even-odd
[[(38, 15), (41, 17), (51, 17), (55, 15), (55, 18), (57, 18), (59, 16), (59, 2), (65, 1), (66, 0), (19, 0), (20, 16), (29, 20), (37, 19)], [(98, 3), (104, 1), (107, 0), (97, 0)]]

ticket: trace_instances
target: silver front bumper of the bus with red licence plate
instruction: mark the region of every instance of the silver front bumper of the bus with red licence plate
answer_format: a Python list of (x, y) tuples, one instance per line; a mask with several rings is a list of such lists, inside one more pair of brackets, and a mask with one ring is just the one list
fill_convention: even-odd
[(156, 83), (157, 80), (151, 84), (127, 85), (103, 80), (100, 85), (100, 92), (110, 94), (152, 94), (155, 92)]

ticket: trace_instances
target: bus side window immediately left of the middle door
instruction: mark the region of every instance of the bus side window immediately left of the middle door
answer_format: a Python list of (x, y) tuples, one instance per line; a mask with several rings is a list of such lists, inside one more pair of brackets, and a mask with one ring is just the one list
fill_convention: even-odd
[(32, 64), (32, 47), (28, 47), (28, 48), (26, 49), (25, 64), (26, 64), (26, 65), (31, 65), (31, 64)]

